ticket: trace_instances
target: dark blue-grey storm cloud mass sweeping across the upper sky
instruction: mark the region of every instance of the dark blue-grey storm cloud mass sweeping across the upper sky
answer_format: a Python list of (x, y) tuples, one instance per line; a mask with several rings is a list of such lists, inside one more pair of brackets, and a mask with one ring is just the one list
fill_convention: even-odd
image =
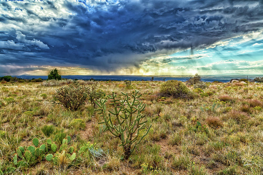
[(114, 71), (263, 26), (262, 1), (251, 0), (1, 1), (0, 9), (2, 65)]

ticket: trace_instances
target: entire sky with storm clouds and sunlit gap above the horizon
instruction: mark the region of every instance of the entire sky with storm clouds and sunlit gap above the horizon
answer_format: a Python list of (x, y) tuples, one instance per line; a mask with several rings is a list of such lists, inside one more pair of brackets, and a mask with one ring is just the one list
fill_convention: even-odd
[(0, 0), (0, 75), (263, 74), (263, 0)]

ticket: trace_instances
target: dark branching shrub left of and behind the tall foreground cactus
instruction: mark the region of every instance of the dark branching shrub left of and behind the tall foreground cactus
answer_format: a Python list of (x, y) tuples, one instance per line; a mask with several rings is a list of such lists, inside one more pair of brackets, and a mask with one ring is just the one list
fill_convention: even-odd
[(54, 95), (51, 102), (53, 104), (63, 104), (65, 108), (76, 111), (85, 103), (89, 90), (88, 86), (80, 85), (77, 81), (73, 81), (69, 85), (57, 89), (57, 94)]

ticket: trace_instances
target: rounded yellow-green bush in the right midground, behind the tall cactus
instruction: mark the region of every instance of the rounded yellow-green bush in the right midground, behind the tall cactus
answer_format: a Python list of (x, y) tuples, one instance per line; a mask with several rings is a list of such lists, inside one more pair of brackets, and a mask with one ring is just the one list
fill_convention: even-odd
[(187, 97), (189, 93), (189, 89), (186, 87), (186, 85), (177, 80), (168, 80), (164, 83), (162, 83), (160, 88), (161, 95), (166, 96), (173, 96), (175, 98), (177, 97)]

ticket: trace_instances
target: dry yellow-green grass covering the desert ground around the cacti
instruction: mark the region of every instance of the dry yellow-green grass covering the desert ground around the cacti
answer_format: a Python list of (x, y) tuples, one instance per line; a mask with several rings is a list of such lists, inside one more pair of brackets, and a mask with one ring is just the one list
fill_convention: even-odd
[[(79, 81), (83, 84), (89, 81)], [(58, 165), (39, 161), (9, 174), (142, 174), (142, 164), (158, 170), (158, 174), (188, 174), (200, 168), (207, 174), (260, 174), (263, 167), (263, 110), (262, 84), (249, 84), (249, 90), (241, 83), (212, 83), (204, 90), (208, 96), (193, 93), (193, 99), (161, 97), (160, 81), (133, 81), (126, 88), (124, 82), (98, 82), (98, 88), (106, 95), (114, 91), (118, 98), (121, 92), (129, 95), (135, 89), (142, 93), (140, 101), (147, 104), (143, 114), (146, 125), (152, 124), (149, 134), (143, 139), (128, 160), (122, 160), (120, 141), (102, 132), (101, 117), (87, 101), (78, 111), (68, 111), (63, 106), (51, 104), (56, 89), (70, 80), (43, 83), (0, 84), (0, 170), (14, 167), (13, 156), (18, 146), (32, 145), (37, 137), (40, 144), (48, 136), (42, 132), (45, 125), (53, 125), (55, 134), (64, 132), (72, 138), (74, 152), (78, 155), (81, 146), (96, 143), (95, 149), (103, 150), (99, 157), (87, 151), (78, 155), (78, 161), (70, 161), (65, 154), (58, 154)], [(193, 87), (188, 86), (190, 91)], [(246, 92), (247, 91), (247, 92)], [(46, 94), (46, 95), (42, 95)], [(221, 101), (217, 101), (217, 98)], [(225, 102), (223, 102), (225, 101)], [(204, 106), (205, 105), (205, 106)], [(213, 108), (212, 106), (216, 106)], [(107, 107), (109, 102), (107, 102)], [(201, 108), (203, 108), (203, 111)], [(80, 130), (72, 121), (80, 119), (85, 124)], [(207, 130), (197, 129), (199, 121)], [(113, 121), (114, 122), (114, 121)], [(12, 137), (13, 136), (13, 137)], [(21, 138), (21, 139), (20, 139)], [(251, 161), (250, 167), (242, 161)], [(187, 165), (190, 165), (191, 167)], [(1, 172), (0, 171), (0, 172)], [(145, 174), (150, 174), (147, 170)]]

